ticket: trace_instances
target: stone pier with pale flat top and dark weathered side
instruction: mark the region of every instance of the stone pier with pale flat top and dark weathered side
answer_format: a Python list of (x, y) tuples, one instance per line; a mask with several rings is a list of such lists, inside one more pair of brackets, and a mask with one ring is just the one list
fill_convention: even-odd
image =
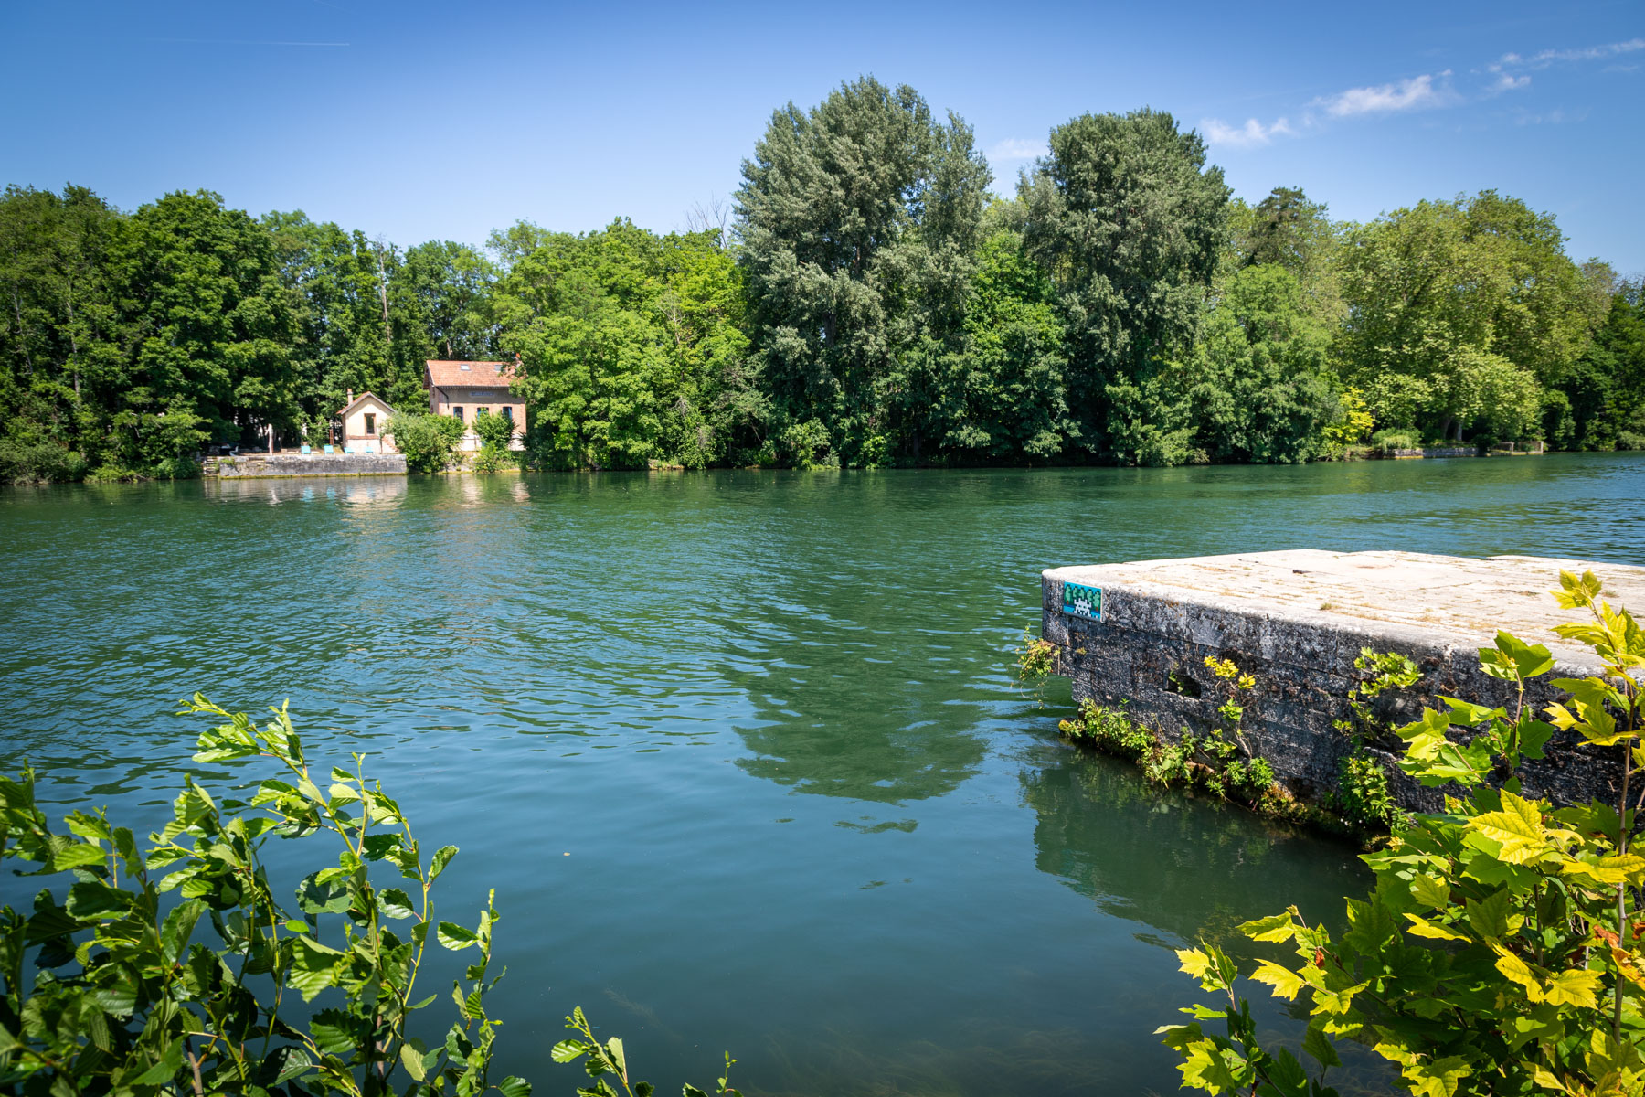
[[(1499, 628), (1546, 645), (1558, 660), (1527, 692), (1538, 712), (1561, 697), (1551, 678), (1594, 673), (1591, 653), (1551, 632), (1578, 618), (1548, 594), (1561, 567), (1592, 571), (1612, 605), (1645, 610), (1645, 567), (1296, 549), (1048, 569), (1041, 635), (1058, 646), (1058, 673), (1073, 681), (1074, 701), (1124, 702), (1132, 719), (1166, 737), (1216, 722), (1221, 701), (1204, 660), (1232, 660), (1257, 676), (1244, 719), (1247, 743), (1293, 794), (1319, 801), (1352, 752), (1334, 724), (1349, 715), (1349, 686), (1367, 678), (1354, 668), (1362, 648), (1398, 651), (1423, 671), (1416, 686), (1379, 697), (1375, 714), (1395, 725), (1438, 706), (1441, 694), (1502, 704), (1512, 714), (1512, 686), (1479, 669), (1479, 648)], [(1397, 747), (1393, 740), (1372, 750), (1387, 763), (1400, 803), (1438, 808), (1443, 789), (1425, 789), (1393, 768)], [(1546, 753), (1522, 770), (1528, 794), (1615, 799), (1617, 748), (1556, 735)]]

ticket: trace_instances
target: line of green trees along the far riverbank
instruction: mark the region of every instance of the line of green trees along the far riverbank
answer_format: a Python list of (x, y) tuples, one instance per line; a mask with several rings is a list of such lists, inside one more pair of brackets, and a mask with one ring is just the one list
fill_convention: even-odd
[[(396, 247), (209, 192), (0, 196), (0, 477), (188, 475), (347, 390), (520, 355), (543, 467), (1300, 462), (1645, 447), (1645, 294), (1495, 191), (1339, 222), (1232, 197), (1156, 110), (995, 186), (872, 77), (772, 115), (725, 217)], [(1013, 192), (1012, 192), (1013, 191)], [(701, 214), (701, 211), (699, 211)]]

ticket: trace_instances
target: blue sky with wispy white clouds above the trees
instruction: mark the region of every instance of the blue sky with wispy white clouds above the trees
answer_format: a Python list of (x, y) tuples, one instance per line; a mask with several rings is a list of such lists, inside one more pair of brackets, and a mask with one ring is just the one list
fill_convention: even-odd
[(729, 199), (770, 113), (872, 72), (977, 133), (997, 183), (1084, 112), (1173, 112), (1235, 192), (1336, 217), (1495, 187), (1645, 271), (1645, 5), (0, 8), (0, 183), (122, 207), (207, 187), (398, 243), (518, 219), (668, 230)]

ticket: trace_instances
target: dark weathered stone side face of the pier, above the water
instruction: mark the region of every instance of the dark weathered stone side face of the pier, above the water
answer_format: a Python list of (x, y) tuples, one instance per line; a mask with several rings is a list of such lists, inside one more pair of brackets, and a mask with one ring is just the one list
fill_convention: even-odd
[[(1124, 702), (1132, 719), (1166, 738), (1178, 738), (1184, 727), (1202, 732), (1217, 722), (1217, 679), (1204, 666), (1206, 656), (1234, 660), (1255, 674), (1258, 692), (1245, 709), (1245, 740), (1293, 794), (1313, 803), (1337, 786), (1339, 763), (1354, 750), (1334, 724), (1349, 715), (1349, 686), (1365, 678), (1354, 669), (1362, 648), (1398, 651), (1423, 671), (1411, 689), (1377, 699), (1374, 711), (1387, 724), (1408, 724), (1421, 709), (1441, 707), (1441, 694), (1505, 706), (1510, 714), (1517, 704), (1508, 683), (1480, 673), (1474, 646), (1436, 641), (1402, 625), (1290, 620), (1283, 613), (1191, 604), (1122, 587), (1101, 592), (1101, 620), (1091, 620), (1063, 612), (1061, 579), (1045, 576), (1041, 594), (1041, 635), (1058, 646), (1058, 673), (1071, 679), (1074, 701)], [(1533, 679), (1525, 702), (1540, 714), (1563, 697), (1548, 686), (1550, 678), (1592, 671), (1559, 663), (1551, 674)], [(1196, 691), (1199, 696), (1191, 696)], [(1446, 789), (1423, 788), (1400, 773), (1393, 766), (1398, 747), (1397, 738), (1372, 745), (1390, 773), (1398, 803), (1408, 809), (1438, 809)], [(1596, 796), (1615, 803), (1622, 768), (1614, 748), (1599, 752), (1574, 735), (1556, 735), (1546, 753), (1522, 768), (1527, 794), (1559, 804)]]

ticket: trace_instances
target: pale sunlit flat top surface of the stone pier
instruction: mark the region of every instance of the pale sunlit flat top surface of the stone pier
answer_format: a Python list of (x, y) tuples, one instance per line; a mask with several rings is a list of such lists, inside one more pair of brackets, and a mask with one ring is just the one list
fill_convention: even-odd
[(1050, 567), (1043, 576), (1260, 617), (1354, 625), (1372, 633), (1425, 633), (1474, 646), (1489, 645), (1504, 628), (1527, 643), (1546, 645), (1561, 660), (1591, 663), (1589, 651), (1551, 633), (1555, 625), (1579, 620), (1548, 594), (1559, 587), (1561, 569), (1592, 571), (1604, 582), (1601, 597), (1645, 612), (1645, 567), (1543, 556), (1286, 549)]

